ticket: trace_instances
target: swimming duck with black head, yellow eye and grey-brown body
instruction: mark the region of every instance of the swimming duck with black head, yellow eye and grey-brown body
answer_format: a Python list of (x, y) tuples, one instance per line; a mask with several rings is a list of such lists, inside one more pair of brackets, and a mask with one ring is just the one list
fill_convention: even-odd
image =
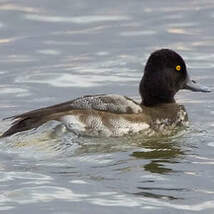
[(188, 126), (185, 107), (175, 101), (175, 94), (182, 89), (210, 92), (190, 79), (185, 61), (178, 53), (159, 49), (146, 62), (139, 84), (140, 102), (117, 94), (82, 96), (5, 118), (12, 122), (1, 137), (36, 129), (51, 120), (59, 121), (76, 135), (168, 136)]

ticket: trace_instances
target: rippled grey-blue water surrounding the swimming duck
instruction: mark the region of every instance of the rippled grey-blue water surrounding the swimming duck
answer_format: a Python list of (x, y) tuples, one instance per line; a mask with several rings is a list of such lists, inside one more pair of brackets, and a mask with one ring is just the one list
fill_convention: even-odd
[[(161, 47), (214, 90), (213, 9), (211, 0), (1, 0), (0, 118), (85, 94), (139, 99), (144, 63)], [(171, 138), (53, 137), (50, 122), (2, 139), (0, 212), (213, 213), (213, 98), (179, 92), (191, 127)]]

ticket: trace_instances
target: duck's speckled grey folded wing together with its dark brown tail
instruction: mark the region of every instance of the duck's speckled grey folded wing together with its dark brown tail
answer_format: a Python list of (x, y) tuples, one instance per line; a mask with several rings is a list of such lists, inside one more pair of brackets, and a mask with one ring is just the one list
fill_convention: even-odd
[(37, 128), (49, 120), (60, 120), (61, 115), (69, 114), (72, 110), (97, 110), (115, 114), (142, 112), (142, 108), (138, 103), (125, 96), (115, 94), (83, 96), (58, 105), (5, 118), (12, 119), (13, 122), (11, 127), (1, 137)]

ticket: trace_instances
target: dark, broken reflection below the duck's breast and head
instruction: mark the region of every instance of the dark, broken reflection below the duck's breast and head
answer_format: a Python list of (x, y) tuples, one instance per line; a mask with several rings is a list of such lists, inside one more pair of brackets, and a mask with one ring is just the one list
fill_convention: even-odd
[[(187, 189), (179, 185), (176, 187), (166, 187), (160, 185), (161, 182), (159, 180), (161, 179), (164, 182), (164, 179), (170, 179), (169, 174), (179, 172), (177, 165), (179, 162), (182, 162), (187, 152), (182, 144), (183, 138), (179, 136), (148, 138), (147, 140), (136, 139), (135, 143), (140, 146), (140, 148), (132, 152), (131, 156), (138, 160), (138, 167), (139, 163), (141, 163), (145, 177), (142, 176), (140, 183), (138, 183), (137, 190), (133, 193), (134, 195), (151, 199), (183, 199), (178, 196), (178, 194), (187, 191)], [(141, 161), (139, 162), (139, 160)]]

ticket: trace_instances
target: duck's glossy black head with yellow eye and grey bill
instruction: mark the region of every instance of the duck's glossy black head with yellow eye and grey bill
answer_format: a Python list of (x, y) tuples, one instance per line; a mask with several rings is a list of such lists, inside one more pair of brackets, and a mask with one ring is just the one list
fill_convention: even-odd
[(153, 106), (160, 103), (174, 103), (174, 96), (180, 89), (208, 92), (190, 81), (182, 57), (170, 49), (153, 52), (149, 57), (140, 82), (142, 104)]

